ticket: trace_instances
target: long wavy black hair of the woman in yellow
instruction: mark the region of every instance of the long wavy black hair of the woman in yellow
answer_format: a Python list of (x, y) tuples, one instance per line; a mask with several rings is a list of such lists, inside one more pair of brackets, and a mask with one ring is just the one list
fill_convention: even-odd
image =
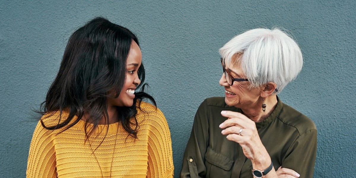
[[(88, 138), (98, 128), (102, 118), (109, 124), (107, 98), (112, 97), (112, 91), (116, 93), (115, 98), (120, 94), (125, 82), (126, 59), (133, 41), (139, 45), (137, 37), (129, 29), (111, 23), (103, 17), (96, 17), (77, 29), (69, 37), (58, 74), (38, 111), (42, 116), (51, 116), (59, 111), (58, 123), (46, 126), (41, 119), (42, 126), (49, 130), (66, 130), (77, 124), (85, 113), (93, 124), (93, 127), (88, 129), (89, 123), (85, 122), (85, 134)], [(117, 107), (122, 126), (135, 138), (139, 129), (135, 117), (136, 103), (139, 102), (140, 108), (142, 99), (148, 98), (156, 106), (153, 97), (144, 92), (146, 84), (143, 84), (143, 64), (137, 73), (141, 80), (137, 88), (142, 88), (140, 92), (135, 93), (133, 105)], [(69, 113), (68, 117), (62, 117), (63, 110)], [(77, 118), (71, 122), (75, 116)], [(133, 123), (130, 122), (132, 117)]]

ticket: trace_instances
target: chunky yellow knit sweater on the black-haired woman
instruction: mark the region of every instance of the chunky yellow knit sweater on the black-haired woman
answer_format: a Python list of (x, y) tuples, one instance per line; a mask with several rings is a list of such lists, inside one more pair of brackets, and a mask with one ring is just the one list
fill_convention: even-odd
[[(39, 122), (30, 145), (27, 177), (172, 178), (172, 142), (167, 121), (151, 104), (142, 102), (141, 108), (145, 112), (137, 109), (137, 139), (127, 137), (119, 122), (99, 125), (85, 143), (82, 120), (62, 133), (61, 129), (47, 130)], [(58, 117), (59, 112), (42, 120), (52, 126), (58, 123)]]

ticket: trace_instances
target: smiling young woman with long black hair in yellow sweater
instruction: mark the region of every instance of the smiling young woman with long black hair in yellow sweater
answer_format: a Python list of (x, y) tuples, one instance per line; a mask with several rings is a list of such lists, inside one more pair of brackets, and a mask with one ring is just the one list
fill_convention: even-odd
[(27, 177), (173, 177), (167, 121), (143, 91), (141, 62), (135, 34), (105, 18), (70, 36), (41, 105)]

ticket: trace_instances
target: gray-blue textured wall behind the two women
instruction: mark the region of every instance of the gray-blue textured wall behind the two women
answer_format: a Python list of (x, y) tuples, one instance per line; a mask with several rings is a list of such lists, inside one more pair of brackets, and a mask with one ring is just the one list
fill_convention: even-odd
[(148, 92), (171, 129), (175, 177), (196, 109), (224, 95), (218, 49), (245, 29), (275, 25), (303, 51), (303, 70), (279, 96), (318, 128), (314, 177), (355, 175), (355, 9), (355, 0), (1, 0), (0, 177), (25, 177), (30, 109), (45, 98), (69, 35), (95, 16), (139, 37)]

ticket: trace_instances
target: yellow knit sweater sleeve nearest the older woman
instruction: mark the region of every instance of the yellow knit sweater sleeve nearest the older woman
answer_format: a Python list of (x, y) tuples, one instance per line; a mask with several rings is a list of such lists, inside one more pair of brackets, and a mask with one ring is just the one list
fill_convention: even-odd
[(150, 120), (148, 133), (148, 178), (172, 178), (173, 156), (171, 133), (163, 113), (157, 109), (149, 112), (146, 118)]

